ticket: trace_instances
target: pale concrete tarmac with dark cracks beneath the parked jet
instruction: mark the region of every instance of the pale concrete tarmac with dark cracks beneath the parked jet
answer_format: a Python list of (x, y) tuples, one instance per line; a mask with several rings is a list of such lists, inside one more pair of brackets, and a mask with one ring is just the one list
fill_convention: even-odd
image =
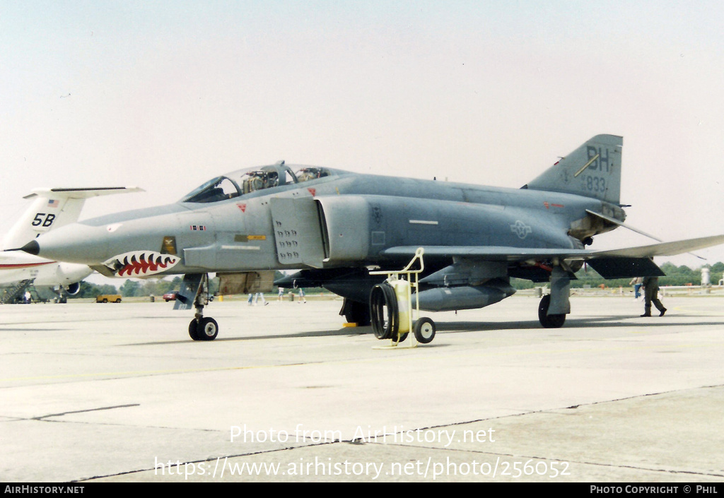
[[(724, 482), (724, 298), (424, 313), (379, 350), (339, 300), (0, 306), (0, 481)], [(409, 339), (408, 339), (409, 340)], [(403, 343), (403, 346), (405, 343)]]

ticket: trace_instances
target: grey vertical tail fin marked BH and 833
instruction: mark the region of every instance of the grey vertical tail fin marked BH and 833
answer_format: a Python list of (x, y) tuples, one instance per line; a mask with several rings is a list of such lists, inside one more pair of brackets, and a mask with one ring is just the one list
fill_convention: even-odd
[(550, 190), (620, 204), (623, 138), (596, 135), (523, 188)]

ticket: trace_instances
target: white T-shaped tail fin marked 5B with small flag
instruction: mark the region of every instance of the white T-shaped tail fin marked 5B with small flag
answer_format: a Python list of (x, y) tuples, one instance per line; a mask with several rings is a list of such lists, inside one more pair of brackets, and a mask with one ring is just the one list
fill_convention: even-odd
[(136, 187), (38, 188), (26, 195), (35, 199), (4, 240), (4, 248), (20, 248), (38, 235), (77, 221), (85, 199), (98, 195), (143, 192)]

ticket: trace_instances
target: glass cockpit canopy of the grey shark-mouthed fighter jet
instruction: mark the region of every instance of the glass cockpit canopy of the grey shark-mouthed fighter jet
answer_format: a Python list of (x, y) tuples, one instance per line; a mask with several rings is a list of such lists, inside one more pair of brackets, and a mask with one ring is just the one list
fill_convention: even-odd
[(213, 178), (182, 198), (181, 202), (214, 203), (225, 201), (241, 195), (279, 187), (308, 182), (330, 174), (327, 168), (303, 167), (292, 172), (284, 161), (261, 168), (240, 169), (236, 172)]

